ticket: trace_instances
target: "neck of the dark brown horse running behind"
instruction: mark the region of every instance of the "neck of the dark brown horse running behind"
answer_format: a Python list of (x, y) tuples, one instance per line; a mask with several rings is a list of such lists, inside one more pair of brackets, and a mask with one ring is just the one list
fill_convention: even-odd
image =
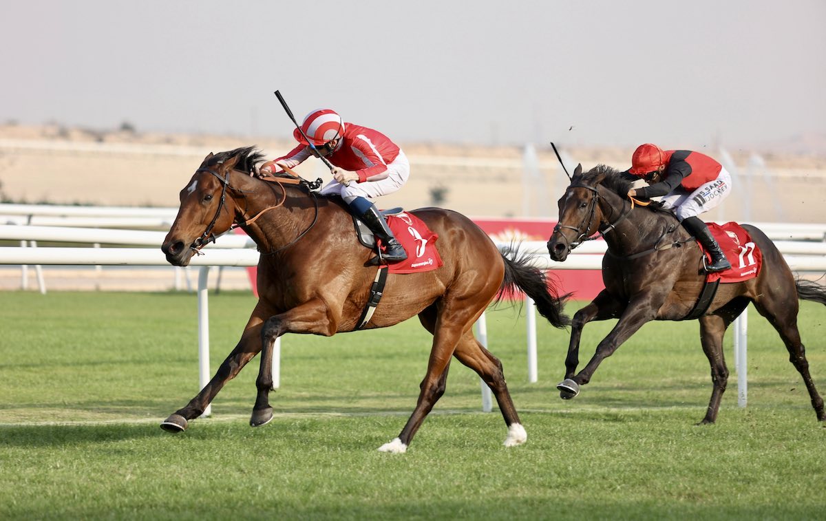
[[(671, 225), (665, 216), (643, 208), (629, 208), (629, 203), (608, 188), (600, 189), (600, 230), (608, 249), (622, 253), (637, 253), (653, 248)], [(624, 215), (624, 217), (622, 217)], [(609, 228), (614, 225), (613, 228)]]

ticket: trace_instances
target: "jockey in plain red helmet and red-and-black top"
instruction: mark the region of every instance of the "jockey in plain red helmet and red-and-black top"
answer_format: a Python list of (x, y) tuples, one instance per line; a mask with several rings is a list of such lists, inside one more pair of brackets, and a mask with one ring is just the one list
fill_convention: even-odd
[(662, 197), (662, 207), (671, 209), (683, 228), (711, 254), (707, 272), (731, 268), (705, 222), (697, 217), (719, 205), (731, 190), (731, 175), (723, 165), (705, 154), (689, 150), (663, 151), (656, 144), (641, 144), (634, 150), (629, 173), (644, 178), (648, 187), (632, 188), (628, 197)]

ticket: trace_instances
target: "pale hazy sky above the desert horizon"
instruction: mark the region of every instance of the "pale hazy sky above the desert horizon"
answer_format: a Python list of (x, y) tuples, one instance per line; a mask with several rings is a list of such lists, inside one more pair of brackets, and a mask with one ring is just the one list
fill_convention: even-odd
[[(824, 0), (3, 2), (0, 121), (665, 148), (826, 135)], [(573, 127), (571, 130), (570, 127)]]

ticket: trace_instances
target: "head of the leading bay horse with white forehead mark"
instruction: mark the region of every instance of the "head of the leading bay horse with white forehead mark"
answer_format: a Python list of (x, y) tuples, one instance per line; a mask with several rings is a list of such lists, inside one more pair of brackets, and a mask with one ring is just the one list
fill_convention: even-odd
[(210, 153), (197, 168), (187, 186), (181, 190), (178, 216), (161, 245), (169, 263), (187, 266), (199, 249), (230, 230), (236, 213), (230, 194), (233, 190), (230, 174), (235, 168), (247, 166), (250, 153), (251, 147), (221, 154)]

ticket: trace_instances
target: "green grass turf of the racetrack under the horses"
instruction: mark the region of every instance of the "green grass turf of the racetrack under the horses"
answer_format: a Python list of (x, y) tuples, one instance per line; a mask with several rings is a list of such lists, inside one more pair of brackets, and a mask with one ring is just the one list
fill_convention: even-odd
[[(212, 371), (253, 305), (210, 296)], [(821, 391), (824, 316), (809, 303), (800, 315)], [(699, 427), (711, 383), (696, 322), (647, 324), (563, 401), (567, 332), (538, 321), (530, 384), (524, 319), (505, 308), (487, 320), (528, 443), (502, 447), (501, 415), (479, 412), (478, 378), (453, 362), (444, 397), (396, 455), (376, 448), (415, 405), (430, 351), (417, 320), (287, 335), (272, 423), (247, 424), (256, 358), (212, 418), (172, 435), (159, 421), (197, 392), (195, 296), (3, 293), (0, 519), (822, 519), (826, 429), (753, 309), (748, 407), (730, 367), (717, 424)], [(614, 323), (586, 326), (582, 362)]]

